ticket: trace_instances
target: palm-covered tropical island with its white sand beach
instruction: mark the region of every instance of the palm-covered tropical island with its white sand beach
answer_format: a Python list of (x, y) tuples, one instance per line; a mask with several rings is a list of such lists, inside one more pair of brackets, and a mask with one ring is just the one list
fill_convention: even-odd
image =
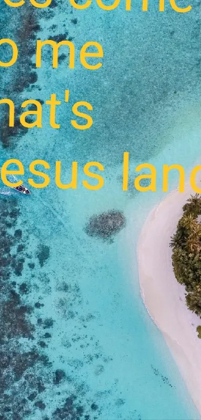
[[(184, 193), (175, 189), (151, 210), (137, 249), (140, 291), (147, 314), (169, 346), (200, 413), (198, 418), (201, 415), (200, 221), (201, 196), (195, 195), (188, 182)], [(175, 366), (170, 369), (174, 376)], [(177, 390), (184, 392), (184, 389)]]

